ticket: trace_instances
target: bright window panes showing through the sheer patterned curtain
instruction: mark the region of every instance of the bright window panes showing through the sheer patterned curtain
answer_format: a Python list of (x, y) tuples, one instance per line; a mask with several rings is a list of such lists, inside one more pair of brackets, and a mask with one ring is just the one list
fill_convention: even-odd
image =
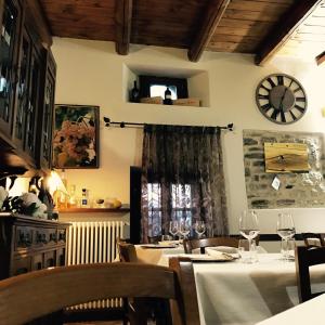
[[(148, 236), (161, 235), (161, 186), (158, 183), (147, 184), (148, 196)], [(192, 223), (192, 191), (190, 184), (172, 184), (170, 187), (172, 219), (188, 219)], [(155, 225), (155, 226), (153, 226)]]

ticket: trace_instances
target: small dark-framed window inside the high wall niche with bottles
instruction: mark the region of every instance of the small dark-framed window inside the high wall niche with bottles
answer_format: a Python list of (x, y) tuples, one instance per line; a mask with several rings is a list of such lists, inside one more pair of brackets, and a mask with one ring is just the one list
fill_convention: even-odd
[(187, 80), (181, 78), (167, 78), (154, 76), (139, 76), (140, 98), (165, 96), (168, 87), (171, 91), (171, 99), (187, 99)]

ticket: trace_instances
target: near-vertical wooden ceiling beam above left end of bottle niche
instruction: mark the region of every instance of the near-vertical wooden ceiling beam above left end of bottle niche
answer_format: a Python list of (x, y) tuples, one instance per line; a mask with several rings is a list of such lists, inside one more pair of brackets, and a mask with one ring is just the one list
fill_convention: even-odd
[(116, 0), (116, 39), (115, 49), (120, 55), (129, 54), (132, 28), (132, 0)]

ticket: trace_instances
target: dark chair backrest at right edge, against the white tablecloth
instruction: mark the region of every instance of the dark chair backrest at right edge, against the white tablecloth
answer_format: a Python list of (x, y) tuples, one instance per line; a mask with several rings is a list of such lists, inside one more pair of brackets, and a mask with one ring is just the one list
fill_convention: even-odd
[(325, 263), (325, 247), (296, 247), (296, 274), (300, 302), (323, 294), (312, 294), (309, 272), (310, 266), (323, 263)]

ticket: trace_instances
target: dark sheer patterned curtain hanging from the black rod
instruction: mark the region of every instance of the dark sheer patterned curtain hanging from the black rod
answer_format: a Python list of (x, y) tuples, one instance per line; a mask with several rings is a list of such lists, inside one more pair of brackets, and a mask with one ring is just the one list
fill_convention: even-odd
[(220, 129), (145, 126), (142, 242), (169, 234), (171, 220), (203, 220), (207, 236), (227, 235)]

